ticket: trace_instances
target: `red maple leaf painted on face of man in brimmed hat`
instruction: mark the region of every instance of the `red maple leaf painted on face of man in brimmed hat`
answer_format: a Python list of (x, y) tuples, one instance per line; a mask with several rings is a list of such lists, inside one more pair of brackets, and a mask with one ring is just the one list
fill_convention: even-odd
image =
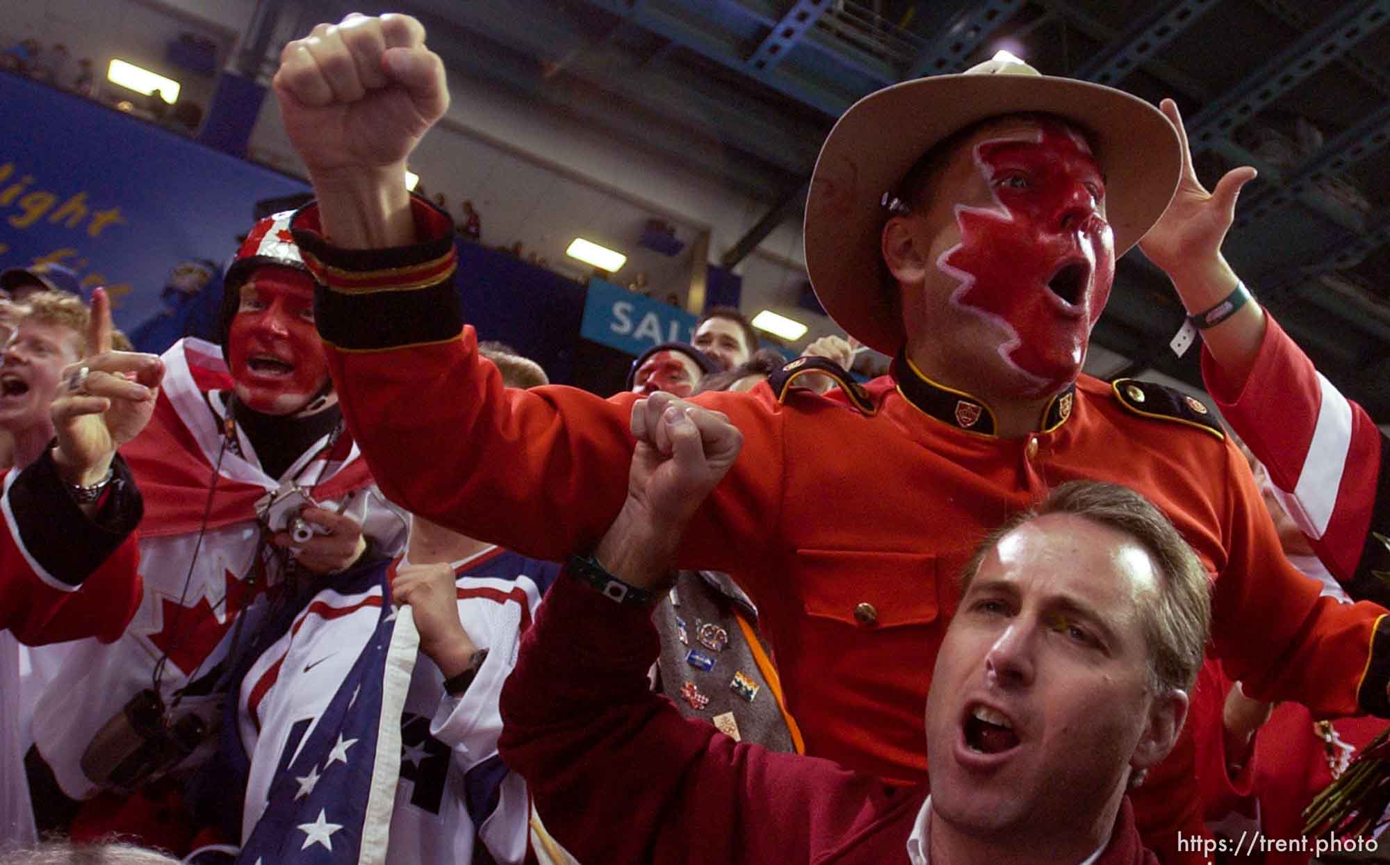
[(1038, 385), (1081, 370), (1115, 280), (1099, 165), (1066, 125), (1044, 120), (974, 147), (991, 207), (958, 204), (960, 242), (937, 259), (959, 280), (951, 303), (1004, 328), (1004, 362)]

